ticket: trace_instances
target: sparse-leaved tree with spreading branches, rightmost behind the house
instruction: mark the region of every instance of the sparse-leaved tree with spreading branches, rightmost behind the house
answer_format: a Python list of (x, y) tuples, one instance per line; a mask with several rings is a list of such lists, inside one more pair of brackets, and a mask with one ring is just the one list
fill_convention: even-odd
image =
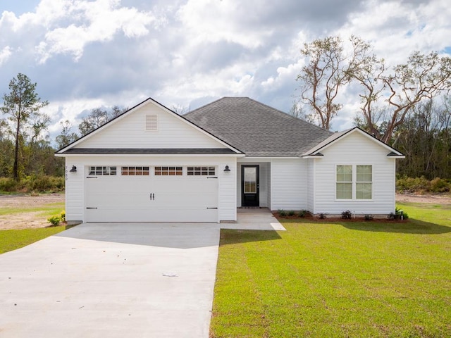
[(440, 58), (437, 52), (425, 55), (416, 51), (407, 63), (395, 66), (392, 74), (385, 75), (385, 71), (383, 60), (369, 56), (352, 77), (364, 89), (360, 97), (366, 129), (388, 143), (393, 142), (397, 128), (416, 104), (449, 92), (451, 58)]

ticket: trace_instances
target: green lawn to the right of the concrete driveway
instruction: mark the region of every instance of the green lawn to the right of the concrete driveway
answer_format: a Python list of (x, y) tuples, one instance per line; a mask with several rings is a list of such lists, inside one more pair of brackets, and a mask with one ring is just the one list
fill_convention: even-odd
[(222, 230), (210, 337), (451, 337), (451, 206)]

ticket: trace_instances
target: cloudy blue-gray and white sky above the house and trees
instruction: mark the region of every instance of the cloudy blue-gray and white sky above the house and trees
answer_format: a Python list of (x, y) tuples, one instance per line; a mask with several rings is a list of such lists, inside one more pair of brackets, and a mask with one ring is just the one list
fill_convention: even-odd
[[(305, 42), (358, 35), (395, 65), (415, 50), (451, 54), (450, 18), (449, 0), (0, 0), (0, 94), (18, 73), (37, 82), (51, 135), (149, 96), (190, 109), (249, 96), (288, 111)], [(358, 98), (342, 104), (333, 130), (351, 126)]]

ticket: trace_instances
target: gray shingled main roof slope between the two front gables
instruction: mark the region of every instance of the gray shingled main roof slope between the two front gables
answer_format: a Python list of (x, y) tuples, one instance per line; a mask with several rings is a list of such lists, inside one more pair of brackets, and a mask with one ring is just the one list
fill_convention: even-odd
[(183, 117), (246, 156), (302, 156), (333, 134), (247, 97), (224, 97)]

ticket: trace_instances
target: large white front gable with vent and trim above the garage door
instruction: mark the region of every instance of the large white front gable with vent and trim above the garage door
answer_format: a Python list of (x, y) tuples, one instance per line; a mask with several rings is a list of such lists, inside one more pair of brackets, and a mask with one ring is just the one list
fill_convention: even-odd
[(56, 154), (75, 154), (74, 149), (221, 148), (240, 153), (153, 99), (147, 99)]

